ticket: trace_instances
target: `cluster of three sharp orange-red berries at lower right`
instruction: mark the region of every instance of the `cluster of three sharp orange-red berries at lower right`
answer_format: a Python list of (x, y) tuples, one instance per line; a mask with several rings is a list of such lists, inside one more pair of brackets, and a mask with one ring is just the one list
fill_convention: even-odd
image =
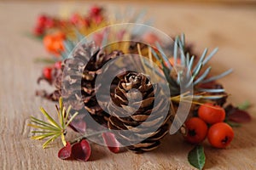
[(205, 139), (215, 148), (227, 147), (234, 138), (234, 131), (224, 122), (224, 108), (207, 103), (201, 105), (198, 117), (185, 122), (187, 134), (185, 139), (191, 144), (201, 144)]

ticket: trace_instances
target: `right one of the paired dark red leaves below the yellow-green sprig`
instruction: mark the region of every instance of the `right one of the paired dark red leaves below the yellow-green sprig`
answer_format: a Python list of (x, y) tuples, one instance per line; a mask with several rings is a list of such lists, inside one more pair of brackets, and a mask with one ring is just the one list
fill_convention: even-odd
[(79, 161), (88, 161), (90, 158), (90, 144), (87, 140), (83, 139), (77, 144), (72, 146), (72, 156)]

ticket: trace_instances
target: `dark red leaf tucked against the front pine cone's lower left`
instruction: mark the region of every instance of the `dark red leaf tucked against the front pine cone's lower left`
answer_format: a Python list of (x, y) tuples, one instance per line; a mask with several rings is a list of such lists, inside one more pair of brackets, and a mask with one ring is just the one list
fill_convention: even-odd
[(102, 133), (102, 138), (107, 144), (108, 149), (112, 151), (113, 153), (119, 153), (120, 150), (120, 144), (119, 141), (115, 138), (113, 133)]

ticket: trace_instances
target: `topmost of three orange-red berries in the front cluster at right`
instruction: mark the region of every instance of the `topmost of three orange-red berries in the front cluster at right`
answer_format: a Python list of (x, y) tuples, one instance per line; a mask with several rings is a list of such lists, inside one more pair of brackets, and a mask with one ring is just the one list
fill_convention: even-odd
[(226, 113), (222, 107), (207, 103), (200, 106), (198, 116), (209, 124), (215, 124), (217, 122), (224, 122)]

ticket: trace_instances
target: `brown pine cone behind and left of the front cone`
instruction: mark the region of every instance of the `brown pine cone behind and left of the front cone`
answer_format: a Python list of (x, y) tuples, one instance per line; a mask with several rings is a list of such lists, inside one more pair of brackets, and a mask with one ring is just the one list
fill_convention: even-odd
[[(109, 115), (102, 110), (96, 100), (98, 87), (95, 86), (95, 82), (96, 77), (102, 73), (102, 66), (120, 54), (123, 53), (113, 51), (107, 54), (96, 48), (91, 42), (81, 44), (73, 52), (73, 58), (65, 61), (66, 69), (61, 94), (63, 99), (66, 99), (67, 104), (72, 105), (74, 111), (83, 114), (85, 108), (96, 122), (107, 124)], [(102, 80), (102, 82), (104, 81)]]

